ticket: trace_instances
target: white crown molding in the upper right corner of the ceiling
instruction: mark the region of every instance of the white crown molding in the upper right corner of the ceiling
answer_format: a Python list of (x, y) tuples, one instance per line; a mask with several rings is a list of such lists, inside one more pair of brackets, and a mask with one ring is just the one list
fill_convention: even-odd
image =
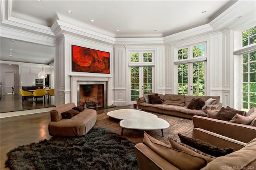
[(245, 8), (247, 8), (248, 6), (252, 6), (252, 3), (255, 3), (255, 0), (238, 0), (238, 2), (230, 6), (230, 8), (228, 8), (227, 10), (222, 12), (222, 14), (212, 20), (212, 22), (210, 22), (210, 26), (213, 29), (218, 28), (219, 26), (230, 20), (232, 17), (236, 16), (236, 14), (245, 10)]

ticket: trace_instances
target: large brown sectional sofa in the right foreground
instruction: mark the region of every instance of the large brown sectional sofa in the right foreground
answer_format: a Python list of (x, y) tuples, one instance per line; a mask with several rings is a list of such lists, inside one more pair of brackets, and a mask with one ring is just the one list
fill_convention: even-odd
[[(234, 152), (217, 158), (198, 155), (197, 152), (173, 143), (165, 144), (145, 135), (135, 145), (140, 170), (222, 170), (256, 168), (256, 127), (230, 123), (212, 118), (194, 116), (193, 138), (220, 148), (234, 148)], [(171, 140), (170, 140), (171, 142)]]

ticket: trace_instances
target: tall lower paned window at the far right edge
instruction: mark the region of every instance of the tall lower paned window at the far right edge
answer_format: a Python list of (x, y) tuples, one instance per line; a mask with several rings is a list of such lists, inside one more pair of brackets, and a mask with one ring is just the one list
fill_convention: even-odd
[(242, 55), (242, 109), (256, 107), (256, 51)]

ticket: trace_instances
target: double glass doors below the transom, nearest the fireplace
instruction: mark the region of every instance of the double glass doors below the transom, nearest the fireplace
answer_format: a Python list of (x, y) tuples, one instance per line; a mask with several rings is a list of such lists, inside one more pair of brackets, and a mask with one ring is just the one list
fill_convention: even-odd
[(132, 66), (130, 67), (130, 103), (132, 104), (146, 94), (152, 91), (152, 66)]

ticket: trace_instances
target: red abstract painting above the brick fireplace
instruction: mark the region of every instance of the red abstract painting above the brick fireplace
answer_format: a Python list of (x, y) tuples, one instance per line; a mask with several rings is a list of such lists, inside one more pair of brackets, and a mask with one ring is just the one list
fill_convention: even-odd
[(110, 53), (72, 45), (72, 71), (110, 73)]

